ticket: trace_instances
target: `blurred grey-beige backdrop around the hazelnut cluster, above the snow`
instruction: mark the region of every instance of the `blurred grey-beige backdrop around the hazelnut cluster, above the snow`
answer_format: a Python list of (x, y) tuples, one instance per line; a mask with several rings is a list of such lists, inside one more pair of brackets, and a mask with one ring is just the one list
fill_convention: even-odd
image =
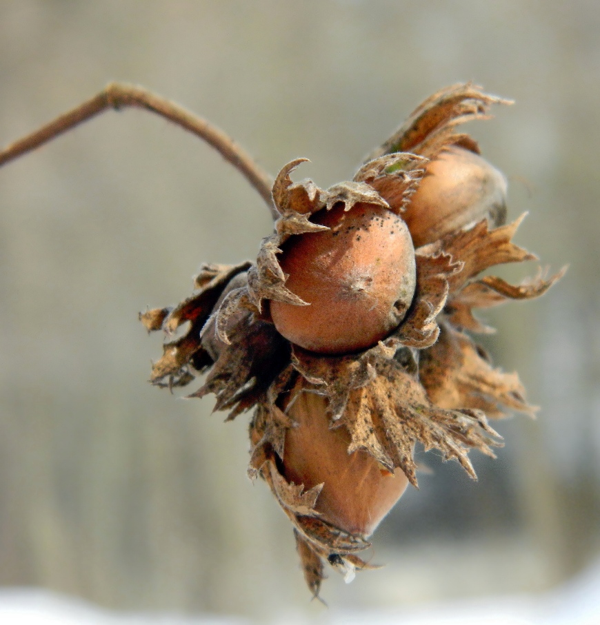
[[(510, 182), (541, 300), (484, 317), (538, 419), (497, 424), (479, 482), (434, 454), (374, 537), (386, 564), (339, 608), (539, 593), (600, 557), (600, 5), (594, 0), (19, 0), (0, 5), (0, 143), (112, 80), (226, 130), (270, 172), (321, 187), (430, 93), (473, 80), (517, 101), (468, 127)], [(297, 178), (297, 179), (298, 179)], [(314, 616), (292, 531), (246, 478), (246, 416), (148, 385), (137, 320), (202, 261), (254, 258), (270, 217), (197, 138), (106, 112), (0, 170), (0, 584), (109, 608)], [(537, 270), (511, 269), (519, 279)]]

